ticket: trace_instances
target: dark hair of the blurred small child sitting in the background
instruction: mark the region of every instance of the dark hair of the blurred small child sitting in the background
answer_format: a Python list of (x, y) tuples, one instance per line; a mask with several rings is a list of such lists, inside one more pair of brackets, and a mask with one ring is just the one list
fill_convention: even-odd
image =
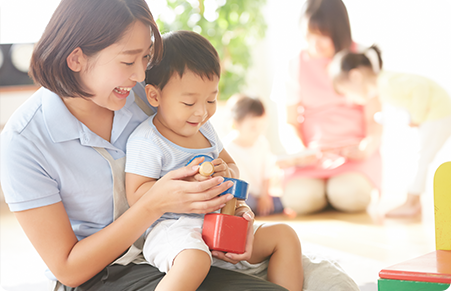
[(233, 98), (233, 104), (230, 111), (235, 122), (241, 122), (248, 116), (260, 117), (265, 114), (265, 106), (258, 98), (244, 94), (235, 94), (231, 98)]

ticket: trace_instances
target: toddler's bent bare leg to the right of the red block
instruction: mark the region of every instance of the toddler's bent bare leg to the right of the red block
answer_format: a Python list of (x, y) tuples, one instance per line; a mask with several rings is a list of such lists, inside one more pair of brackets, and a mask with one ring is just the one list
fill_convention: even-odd
[(301, 243), (291, 227), (286, 224), (263, 225), (257, 230), (249, 263), (260, 263), (267, 258), (270, 282), (290, 291), (302, 290)]

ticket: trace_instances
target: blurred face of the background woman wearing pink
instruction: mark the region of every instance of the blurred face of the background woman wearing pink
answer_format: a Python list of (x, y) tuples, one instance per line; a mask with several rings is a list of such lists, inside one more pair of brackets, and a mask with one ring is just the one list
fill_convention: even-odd
[(307, 41), (307, 51), (313, 58), (332, 58), (335, 55), (335, 46), (327, 35), (321, 34), (319, 31), (312, 31), (308, 28), (306, 22), (302, 25), (304, 37)]

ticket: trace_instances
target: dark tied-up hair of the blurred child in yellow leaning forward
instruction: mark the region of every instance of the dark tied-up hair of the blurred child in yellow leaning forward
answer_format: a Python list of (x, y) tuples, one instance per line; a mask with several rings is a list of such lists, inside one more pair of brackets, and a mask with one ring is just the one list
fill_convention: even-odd
[(347, 76), (349, 71), (355, 68), (368, 68), (374, 73), (378, 73), (382, 69), (381, 50), (372, 45), (368, 49), (360, 53), (353, 53), (344, 50), (335, 55), (331, 67), (330, 75), (333, 80)]

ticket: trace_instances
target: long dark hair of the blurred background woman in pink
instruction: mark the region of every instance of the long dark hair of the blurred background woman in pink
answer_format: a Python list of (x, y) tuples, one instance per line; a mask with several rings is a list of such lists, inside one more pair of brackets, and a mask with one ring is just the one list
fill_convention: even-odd
[(310, 31), (332, 39), (335, 53), (351, 47), (351, 25), (342, 0), (307, 0), (302, 18), (307, 20)]

